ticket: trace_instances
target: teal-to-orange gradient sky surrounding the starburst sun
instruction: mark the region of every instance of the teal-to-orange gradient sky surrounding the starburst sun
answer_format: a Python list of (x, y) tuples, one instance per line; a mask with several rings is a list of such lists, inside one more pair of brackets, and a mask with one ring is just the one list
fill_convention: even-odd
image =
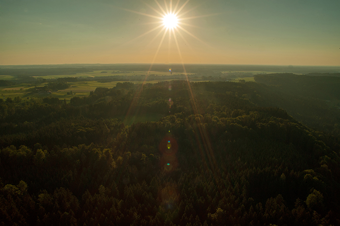
[[(211, 16), (184, 21), (200, 41), (176, 34), (184, 63), (340, 65), (340, 0), (190, 0), (181, 13), (193, 7), (183, 17)], [(159, 20), (124, 9), (158, 16), (140, 0), (0, 0), (0, 65), (152, 63), (161, 28), (136, 37)], [(154, 63), (181, 63), (173, 37)]]

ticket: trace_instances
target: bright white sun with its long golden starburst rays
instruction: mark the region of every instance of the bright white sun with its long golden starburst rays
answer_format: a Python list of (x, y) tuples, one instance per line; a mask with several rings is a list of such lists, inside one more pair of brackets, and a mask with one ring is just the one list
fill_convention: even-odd
[[(187, 81), (188, 95), (189, 95), (189, 97), (191, 97), (190, 104), (191, 104), (191, 107), (193, 109), (193, 112), (195, 114), (199, 114), (199, 108), (198, 108), (198, 105), (196, 104), (194, 93), (193, 93), (191, 84), (190, 84), (189, 79), (188, 79), (187, 70), (186, 70), (186, 67), (184, 65), (183, 56), (182, 56), (182, 53), (181, 53), (180, 45), (178, 43), (178, 39), (177, 39), (176, 34), (178, 34), (184, 40), (186, 45), (189, 48), (191, 48), (191, 49), (192, 49), (192, 47), (191, 47), (190, 43), (187, 42), (187, 39), (185, 37), (187, 35), (184, 36), (182, 34), (182, 31), (186, 32), (189, 36), (191, 36), (192, 38), (198, 40), (199, 42), (203, 43), (204, 45), (209, 46), (204, 41), (202, 41), (201, 39), (196, 37), (194, 34), (192, 34), (191, 32), (187, 31), (182, 26), (188, 26), (188, 27), (194, 27), (194, 28), (199, 28), (199, 27), (197, 27), (195, 25), (192, 25), (192, 24), (189, 24), (189, 23), (185, 23), (183, 21), (190, 20), (190, 19), (195, 19), (195, 18), (207, 17), (207, 16), (214, 16), (214, 15), (218, 15), (218, 14), (201, 15), (201, 16), (188, 16), (188, 17), (185, 17), (185, 18), (181, 18), (184, 15), (187, 15), (189, 12), (192, 12), (194, 9), (196, 9), (197, 7), (199, 7), (202, 4), (200, 4), (198, 6), (195, 6), (193, 8), (190, 8), (189, 10), (187, 10), (185, 12), (182, 12), (182, 10), (185, 8), (185, 6), (187, 5), (187, 3), (190, 0), (186, 0), (184, 2), (184, 4), (182, 6), (180, 6), (180, 7), (179, 7), (180, 0), (177, 0), (174, 8), (173, 8), (173, 5), (172, 5), (172, 0), (170, 0), (170, 4), (169, 5), (167, 4), (167, 0), (164, 0), (164, 4), (165, 4), (164, 7), (161, 6), (161, 4), (158, 2), (158, 0), (154, 0), (154, 1), (156, 2), (156, 4), (158, 5), (160, 10), (157, 9), (157, 7), (153, 8), (151, 5), (149, 5), (149, 4), (145, 3), (145, 2), (143, 2), (143, 3), (146, 4), (149, 8), (151, 8), (156, 13), (156, 15), (159, 15), (159, 16), (153, 16), (153, 15), (150, 15), (150, 14), (145, 14), (145, 13), (140, 13), (140, 12), (136, 12), (136, 11), (133, 11), (133, 10), (124, 9), (124, 10), (129, 11), (129, 12), (133, 12), (133, 13), (136, 13), (136, 14), (139, 14), (139, 15), (143, 15), (143, 16), (153, 17), (153, 18), (156, 18), (156, 19), (160, 20), (158, 22), (150, 22), (150, 23), (147, 23), (147, 24), (159, 24), (159, 23), (161, 23), (156, 28), (151, 29), (150, 31), (145, 32), (145, 33), (139, 35), (138, 37), (136, 37), (133, 40), (136, 40), (137, 38), (140, 38), (140, 37), (142, 37), (142, 36), (144, 36), (144, 35), (146, 35), (148, 33), (151, 33), (153, 31), (159, 29), (161, 26), (163, 26), (163, 28), (160, 31), (157, 32), (157, 34), (153, 37), (153, 39), (150, 41), (150, 43), (146, 46), (146, 48), (148, 48), (148, 46), (151, 45), (152, 43), (154, 43), (154, 40), (156, 40), (156, 38), (158, 38), (158, 36), (160, 34), (162, 34), (162, 32), (163, 32), (162, 38), (161, 38), (161, 40), (160, 40), (160, 42), (158, 44), (158, 47), (157, 47), (157, 49), (156, 49), (156, 51), (154, 53), (153, 60), (152, 60), (152, 62), (150, 64), (149, 70), (148, 70), (148, 72), (147, 72), (147, 74), (146, 74), (146, 76), (144, 78), (144, 81), (142, 82), (141, 88), (136, 91), (136, 93), (135, 93), (135, 95), (133, 97), (133, 101), (131, 102), (131, 105), (130, 105), (130, 107), (128, 109), (127, 115), (129, 115), (130, 113), (132, 113), (132, 111), (135, 111), (135, 109), (136, 109), (136, 106), (137, 106), (136, 104), (137, 104), (137, 101), (138, 101), (138, 97), (140, 97), (141, 92), (143, 90), (143, 85), (146, 83), (146, 81), (148, 79), (148, 76), (150, 75), (151, 69), (152, 69), (153, 64), (155, 63), (155, 60), (156, 60), (156, 58), (158, 56), (158, 53), (159, 53), (159, 51), (160, 51), (160, 49), (161, 49), (161, 47), (163, 45), (163, 42), (164, 42), (165, 37), (167, 35), (167, 32), (169, 32), (168, 62), (170, 63), (170, 49), (171, 49), (171, 45), (173, 45), (173, 41), (171, 40), (171, 38), (173, 36), (174, 43), (175, 43), (175, 46), (176, 46), (177, 51), (178, 51), (178, 56), (179, 56), (179, 59), (180, 59), (180, 62), (182, 64), (182, 66), (183, 66), (183, 71), (184, 71), (185, 78), (186, 78), (186, 81)], [(164, 52), (164, 54), (165, 54), (165, 52)], [(213, 148), (212, 148), (209, 136), (207, 135), (206, 129), (204, 128), (204, 126), (202, 126), (199, 123), (197, 124), (197, 130), (195, 132), (195, 138), (196, 138), (196, 141), (197, 141), (198, 149), (201, 152), (201, 156), (202, 156), (203, 160), (206, 163), (206, 167), (210, 166), (210, 170), (212, 171), (213, 176), (216, 179), (216, 175), (218, 175), (218, 167), (217, 167), (217, 164), (216, 164)], [(216, 182), (219, 183), (218, 180), (216, 180)]]

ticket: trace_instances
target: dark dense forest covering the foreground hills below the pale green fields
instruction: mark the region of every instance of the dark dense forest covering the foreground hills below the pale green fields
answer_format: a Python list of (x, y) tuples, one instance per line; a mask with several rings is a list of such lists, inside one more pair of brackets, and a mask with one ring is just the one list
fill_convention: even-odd
[(0, 224), (340, 225), (340, 78), (305, 77), (0, 99)]

